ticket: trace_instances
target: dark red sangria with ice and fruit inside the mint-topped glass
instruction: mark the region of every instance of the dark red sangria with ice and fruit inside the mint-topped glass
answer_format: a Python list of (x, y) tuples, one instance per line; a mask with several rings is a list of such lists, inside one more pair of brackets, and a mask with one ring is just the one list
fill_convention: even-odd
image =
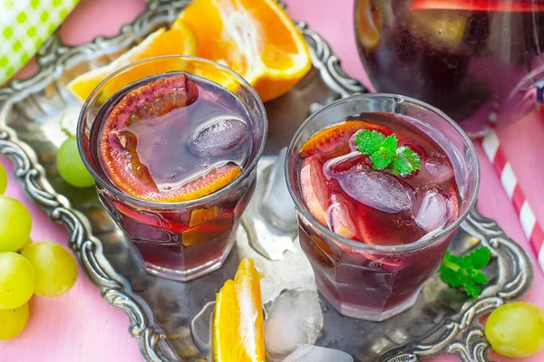
[[(357, 120), (386, 135), (394, 133), (398, 147), (412, 148), (421, 157), (421, 170), (405, 177), (374, 170), (369, 157), (355, 148), (356, 130), (349, 125)], [(461, 197), (454, 167), (432, 138), (407, 119), (386, 113), (365, 113), (344, 125), (351, 130), (332, 140), (335, 147), (325, 142), (316, 153), (299, 159), (301, 194), (321, 224), (355, 243), (400, 245), (438, 233), (457, 220)], [(335, 241), (300, 219), (300, 243), (320, 290), (344, 314), (357, 317), (358, 310), (370, 310), (374, 317), (365, 317), (369, 319), (384, 319), (388, 310), (403, 308), (417, 296), (437, 270), (451, 236), (412, 252), (365, 251)]]

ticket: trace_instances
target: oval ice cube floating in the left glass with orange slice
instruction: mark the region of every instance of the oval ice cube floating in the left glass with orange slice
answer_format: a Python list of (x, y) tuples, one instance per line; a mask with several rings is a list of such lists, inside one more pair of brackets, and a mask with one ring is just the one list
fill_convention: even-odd
[(214, 119), (197, 129), (187, 140), (199, 157), (215, 157), (232, 151), (248, 137), (248, 125), (240, 119)]

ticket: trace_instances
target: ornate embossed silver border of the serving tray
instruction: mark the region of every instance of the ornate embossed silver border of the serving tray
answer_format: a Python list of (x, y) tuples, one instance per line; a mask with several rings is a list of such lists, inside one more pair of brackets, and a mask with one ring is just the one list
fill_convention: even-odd
[[(23, 184), (27, 195), (49, 214), (53, 222), (66, 227), (69, 243), (76, 252), (83, 270), (100, 288), (102, 297), (113, 307), (127, 314), (130, 319), (131, 336), (137, 338), (142, 356), (153, 362), (176, 357), (165, 342), (165, 336), (155, 325), (150, 306), (145, 300), (135, 295), (131, 291), (130, 284), (112, 269), (103, 257), (102, 243), (89, 233), (90, 225), (85, 216), (73, 210), (63, 195), (53, 191), (44, 176), (44, 168), (37, 162), (34, 150), (19, 140), (15, 131), (2, 124), (1, 119), (5, 119), (8, 108), (6, 105), (13, 101), (18, 91), (39, 87), (48, 74), (59, 71), (67, 63), (77, 62), (78, 54), (103, 51), (109, 44), (126, 42), (146, 28), (146, 22), (150, 21), (150, 15), (154, 11), (170, 3), (168, 1), (149, 2), (144, 14), (141, 14), (132, 24), (124, 25), (121, 33), (112, 38), (98, 37), (92, 43), (69, 47), (62, 45), (58, 38), (52, 37), (38, 54), (40, 71), (28, 80), (12, 81), (4, 89), (0, 89), (0, 154), (11, 157), (15, 162), (15, 176)], [(320, 35), (310, 30), (305, 23), (296, 25), (310, 44), (314, 66), (320, 71), (321, 77), (331, 90), (340, 97), (366, 91), (359, 81), (345, 74), (339, 59)], [(498, 293), (476, 304), (465, 305), (461, 313), (455, 316), (455, 320), (452, 320), (449, 325), (452, 333), (436, 336), (438, 338), (433, 341), (432, 346), (418, 344), (411, 352), (400, 353), (387, 359), (388, 361), (419, 361), (444, 351), (457, 354), (463, 361), (485, 361), (489, 346), (483, 338), (482, 328), (476, 317), (498, 307), (504, 300), (519, 298), (529, 288), (533, 271), (527, 254), (504, 234), (496, 222), (481, 216), (477, 211), (472, 212), (469, 222), (470, 227), (476, 228), (476, 233), (491, 235), (490, 238), (483, 237), (482, 239), (491, 246), (494, 243), (505, 243), (510, 248), (514, 248), (522, 263), (520, 268), (524, 272), (520, 274), (524, 275), (523, 280), (510, 281), (510, 287), (512, 287), (510, 293)], [(479, 224), (481, 227), (478, 226)]]

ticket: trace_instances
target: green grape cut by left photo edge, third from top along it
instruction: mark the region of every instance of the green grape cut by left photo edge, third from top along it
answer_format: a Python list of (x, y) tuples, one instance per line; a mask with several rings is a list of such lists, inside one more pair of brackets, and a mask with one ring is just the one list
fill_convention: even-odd
[(0, 252), (0, 309), (21, 307), (34, 293), (32, 264), (16, 252)]

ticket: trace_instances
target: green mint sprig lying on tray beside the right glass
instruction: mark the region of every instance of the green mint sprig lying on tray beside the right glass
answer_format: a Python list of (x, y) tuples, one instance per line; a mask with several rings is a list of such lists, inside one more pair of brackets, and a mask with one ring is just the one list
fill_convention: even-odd
[(489, 283), (481, 268), (487, 266), (491, 260), (491, 251), (482, 246), (465, 256), (453, 255), (446, 251), (442, 264), (438, 270), (442, 281), (453, 288), (461, 287), (467, 295), (475, 298), (481, 293), (478, 285)]

